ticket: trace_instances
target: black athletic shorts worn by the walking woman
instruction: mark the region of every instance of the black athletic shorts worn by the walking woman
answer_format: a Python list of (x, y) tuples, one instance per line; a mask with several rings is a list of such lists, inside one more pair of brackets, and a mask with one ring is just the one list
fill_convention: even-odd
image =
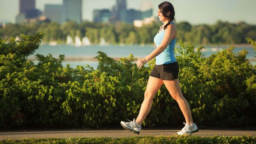
[(160, 78), (162, 80), (173, 80), (178, 78), (179, 64), (172, 62), (162, 65), (155, 65), (152, 69), (150, 76)]

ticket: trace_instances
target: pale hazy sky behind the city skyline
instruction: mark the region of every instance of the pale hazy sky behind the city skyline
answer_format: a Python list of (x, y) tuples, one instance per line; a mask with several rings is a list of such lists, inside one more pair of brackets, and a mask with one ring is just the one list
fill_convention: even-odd
[[(154, 4), (156, 16), (158, 4), (163, 0), (127, 0), (128, 9), (140, 9), (142, 1)], [(256, 0), (169, 0), (174, 6), (177, 22), (188, 21), (191, 24), (213, 24), (217, 20), (256, 24)], [(0, 0), (0, 21), (15, 22), (19, 11), (19, 0)], [(62, 4), (62, 0), (36, 0), (36, 8), (44, 10), (44, 4)], [(83, 0), (82, 20), (92, 21), (93, 9), (111, 9), (116, 0)]]

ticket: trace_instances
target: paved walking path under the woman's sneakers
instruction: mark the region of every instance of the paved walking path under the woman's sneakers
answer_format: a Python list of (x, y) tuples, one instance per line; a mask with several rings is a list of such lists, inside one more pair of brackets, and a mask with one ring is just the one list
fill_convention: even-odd
[[(80, 137), (131, 137), (131, 136), (171, 136), (177, 135), (180, 130), (152, 130), (143, 129), (140, 134), (135, 134), (124, 129), (107, 129), (107, 130), (84, 130), (84, 129), (69, 129), (69, 130), (18, 130), (18, 131), (0, 131), (0, 140), (4, 139), (23, 139), (23, 138), (80, 138)], [(192, 135), (199, 136), (230, 136), (230, 135), (252, 135), (256, 136), (256, 130), (213, 130), (199, 129), (199, 132)]]

